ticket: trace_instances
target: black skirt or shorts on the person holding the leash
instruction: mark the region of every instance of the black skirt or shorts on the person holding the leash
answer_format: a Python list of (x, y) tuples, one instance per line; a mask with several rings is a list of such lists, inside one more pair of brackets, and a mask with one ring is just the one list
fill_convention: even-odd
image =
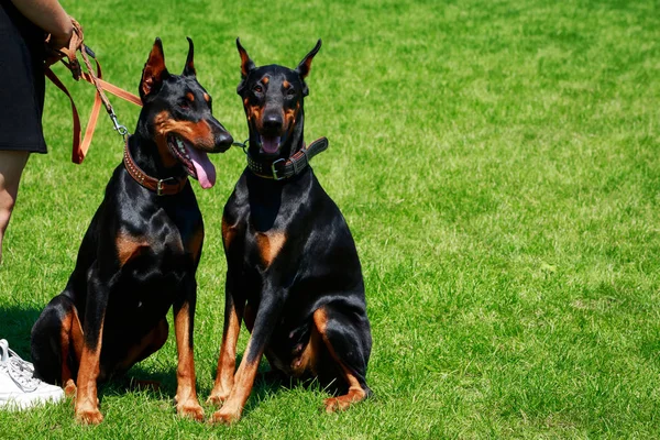
[(44, 31), (0, 0), (0, 150), (46, 153)]

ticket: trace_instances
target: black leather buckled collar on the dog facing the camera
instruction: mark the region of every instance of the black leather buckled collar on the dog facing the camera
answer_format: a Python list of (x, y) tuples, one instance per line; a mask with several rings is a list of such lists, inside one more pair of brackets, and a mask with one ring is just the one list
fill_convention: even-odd
[(274, 180), (290, 178), (307, 167), (309, 161), (328, 148), (328, 139), (319, 138), (309, 145), (304, 145), (289, 158), (278, 158), (273, 162), (261, 162), (248, 154), (248, 168), (255, 175)]

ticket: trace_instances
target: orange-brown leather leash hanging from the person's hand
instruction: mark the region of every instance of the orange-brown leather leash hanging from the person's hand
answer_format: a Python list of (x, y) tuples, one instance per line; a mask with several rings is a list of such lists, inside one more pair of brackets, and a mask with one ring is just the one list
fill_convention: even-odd
[[(72, 23), (74, 24), (74, 34), (72, 35), (72, 40), (69, 41), (68, 48), (63, 48), (62, 51), (53, 51), (52, 48), (48, 48), (50, 62), (47, 62), (47, 64), (45, 66), (45, 75), (55, 86), (57, 86), (57, 88), (59, 88), (62, 91), (64, 91), (64, 94), (68, 97), (68, 99), (72, 103), (72, 113), (73, 113), (73, 119), (74, 119), (74, 140), (73, 140), (72, 161), (75, 164), (80, 164), (85, 160), (85, 156), (87, 155), (87, 152), (89, 150), (89, 145), (91, 144), (91, 139), (94, 138), (94, 131), (96, 129), (99, 112), (101, 110), (101, 105), (103, 105), (103, 107), (106, 108), (106, 111), (108, 112), (108, 116), (112, 120), (114, 130), (117, 130), (118, 133), (124, 138), (129, 133), (127, 128), (124, 125), (121, 125), (118, 122), (117, 114), (114, 114), (114, 109), (112, 108), (112, 105), (110, 103), (110, 100), (106, 96), (105, 91), (112, 94), (118, 98), (124, 99), (124, 100), (132, 102), (140, 107), (142, 107), (142, 100), (138, 96), (135, 96), (122, 88), (113, 86), (112, 84), (102, 79), (103, 74), (101, 70), (101, 65), (99, 64), (98, 59), (96, 58), (96, 55), (94, 54), (94, 52), (88, 46), (86, 46), (84, 43), (82, 28), (74, 18), (72, 18)], [(48, 38), (46, 38), (46, 43), (48, 41), (50, 41), (50, 36), (48, 36)], [(78, 59), (76, 57), (77, 52), (80, 53), (80, 56), (82, 58), (85, 67), (87, 68), (87, 72), (82, 72), (82, 69), (80, 68), (80, 63), (78, 62)], [(95, 69), (91, 66), (89, 57), (91, 57), (96, 63), (96, 74), (95, 74)], [(82, 138), (81, 141), (80, 141), (80, 132), (81, 132), (80, 117), (78, 116), (78, 109), (76, 108), (74, 98), (67, 90), (66, 86), (59, 80), (59, 78), (57, 78), (55, 73), (50, 67), (52, 64), (55, 64), (57, 61), (61, 61), (62, 64), (64, 64), (66, 66), (66, 68), (68, 68), (72, 72), (74, 79), (76, 81), (79, 80), (80, 78), (82, 78), (87, 82), (94, 85), (97, 89), (97, 92), (94, 98), (94, 105), (91, 107), (91, 112), (89, 114), (89, 120), (87, 121), (87, 128), (85, 129), (85, 136)]]

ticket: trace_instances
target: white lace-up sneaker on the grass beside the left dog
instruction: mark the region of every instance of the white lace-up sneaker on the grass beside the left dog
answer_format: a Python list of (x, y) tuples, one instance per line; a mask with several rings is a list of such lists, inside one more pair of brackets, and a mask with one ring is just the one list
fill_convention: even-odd
[(63, 398), (61, 387), (34, 377), (34, 366), (0, 339), (0, 408), (25, 409)]

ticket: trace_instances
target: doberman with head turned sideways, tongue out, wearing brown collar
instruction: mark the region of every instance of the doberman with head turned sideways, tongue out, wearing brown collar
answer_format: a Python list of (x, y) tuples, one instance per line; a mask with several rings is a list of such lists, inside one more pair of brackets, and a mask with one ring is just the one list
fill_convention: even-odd
[(37, 377), (76, 395), (75, 416), (99, 424), (97, 383), (124, 373), (167, 340), (174, 310), (178, 351), (176, 410), (204, 419), (196, 392), (193, 326), (195, 273), (204, 223), (188, 176), (216, 180), (207, 153), (233, 140), (211, 114), (197, 81), (193, 41), (183, 74), (165, 67), (156, 38), (142, 72), (143, 109), (82, 239), (64, 292), (32, 329)]

